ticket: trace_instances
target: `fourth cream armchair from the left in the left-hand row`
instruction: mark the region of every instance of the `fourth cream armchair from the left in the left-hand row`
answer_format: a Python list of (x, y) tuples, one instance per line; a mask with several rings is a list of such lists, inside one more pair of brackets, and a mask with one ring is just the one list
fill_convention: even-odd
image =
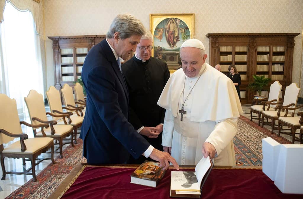
[(76, 103), (77, 104), (79, 104), (79, 103), (75, 102), (72, 87), (70, 87), (68, 84), (64, 84), (63, 87), (61, 88), (61, 93), (62, 93), (65, 107), (75, 109), (75, 112), (73, 112), (73, 113), (77, 114), (78, 116), (84, 117), (85, 108), (84, 108), (84, 106), (79, 106), (79, 105), (78, 105), (78, 107), (76, 107)]

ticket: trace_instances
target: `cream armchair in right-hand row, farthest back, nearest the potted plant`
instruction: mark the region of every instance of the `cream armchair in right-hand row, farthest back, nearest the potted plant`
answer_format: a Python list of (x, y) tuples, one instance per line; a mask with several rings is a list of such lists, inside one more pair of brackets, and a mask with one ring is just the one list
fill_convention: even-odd
[(268, 99), (262, 99), (261, 103), (263, 105), (253, 105), (250, 107), (250, 120), (252, 121), (252, 113), (258, 114), (258, 125), (260, 126), (260, 120), (261, 120), (261, 113), (265, 111), (265, 108), (267, 109), (269, 107), (269, 111), (275, 111), (276, 110), (276, 104), (270, 104), (265, 106), (265, 102), (278, 102), (279, 101), (279, 95), (282, 89), (282, 85), (280, 85), (279, 81), (275, 81), (273, 84), (270, 85)]

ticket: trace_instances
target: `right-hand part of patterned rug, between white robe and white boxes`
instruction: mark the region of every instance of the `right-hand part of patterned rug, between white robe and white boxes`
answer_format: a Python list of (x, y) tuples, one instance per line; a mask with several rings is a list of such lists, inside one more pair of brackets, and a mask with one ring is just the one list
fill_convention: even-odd
[(236, 165), (262, 166), (262, 138), (266, 137), (271, 137), (281, 144), (291, 144), (291, 141), (278, 137), (241, 115), (238, 120), (238, 132), (233, 139)]

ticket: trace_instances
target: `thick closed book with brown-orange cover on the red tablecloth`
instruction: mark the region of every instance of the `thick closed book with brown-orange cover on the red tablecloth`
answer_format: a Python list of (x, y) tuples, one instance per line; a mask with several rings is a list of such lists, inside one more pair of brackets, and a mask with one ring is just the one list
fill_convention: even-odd
[(159, 162), (146, 160), (130, 175), (131, 183), (156, 187), (165, 172), (166, 169), (161, 168)]

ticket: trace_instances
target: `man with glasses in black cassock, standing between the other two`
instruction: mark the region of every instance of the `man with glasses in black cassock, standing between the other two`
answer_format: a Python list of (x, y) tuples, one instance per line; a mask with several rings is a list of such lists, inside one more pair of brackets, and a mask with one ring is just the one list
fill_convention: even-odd
[[(165, 62), (151, 57), (152, 48), (152, 35), (148, 32), (138, 43), (135, 55), (122, 64), (122, 72), (130, 98), (129, 122), (152, 146), (163, 151), (165, 109), (158, 106), (157, 101), (170, 74)], [(141, 164), (145, 160), (144, 156), (130, 157), (128, 163)]]

